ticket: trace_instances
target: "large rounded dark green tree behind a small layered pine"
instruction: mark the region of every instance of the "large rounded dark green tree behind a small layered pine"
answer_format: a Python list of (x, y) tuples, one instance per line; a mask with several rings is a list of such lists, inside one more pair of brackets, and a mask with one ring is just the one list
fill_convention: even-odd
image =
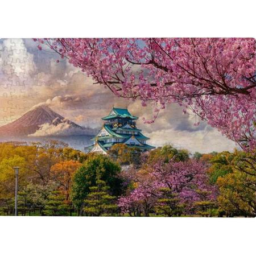
[(73, 177), (72, 201), (77, 214), (82, 213), (82, 206), (90, 187), (96, 186), (97, 180), (103, 180), (110, 187), (113, 196), (121, 194), (122, 179), (119, 177), (121, 168), (108, 156), (91, 155)]

